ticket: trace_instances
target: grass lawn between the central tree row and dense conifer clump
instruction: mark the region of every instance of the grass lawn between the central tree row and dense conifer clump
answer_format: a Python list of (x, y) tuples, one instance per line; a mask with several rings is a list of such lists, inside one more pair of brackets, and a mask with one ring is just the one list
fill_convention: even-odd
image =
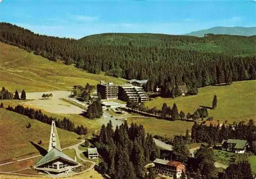
[(174, 135), (185, 134), (186, 130), (191, 130), (194, 122), (187, 121), (168, 121), (156, 118), (129, 117), (127, 118), (129, 125), (131, 123), (142, 124), (146, 133), (154, 135), (173, 137)]

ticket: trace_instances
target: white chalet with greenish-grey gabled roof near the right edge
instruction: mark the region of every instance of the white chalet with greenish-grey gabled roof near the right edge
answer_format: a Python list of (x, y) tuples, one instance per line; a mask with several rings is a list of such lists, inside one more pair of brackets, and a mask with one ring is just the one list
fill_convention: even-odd
[(247, 140), (228, 139), (221, 142), (222, 150), (233, 151), (236, 154), (244, 154), (248, 147)]

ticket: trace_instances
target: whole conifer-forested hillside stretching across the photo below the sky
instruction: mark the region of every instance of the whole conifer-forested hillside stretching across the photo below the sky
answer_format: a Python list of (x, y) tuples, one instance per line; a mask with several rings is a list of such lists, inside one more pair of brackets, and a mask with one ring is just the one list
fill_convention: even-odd
[(100, 34), (74, 40), (0, 23), (0, 40), (89, 72), (148, 79), (146, 90), (159, 86), (163, 95), (175, 96), (175, 86), (182, 84), (190, 90), (256, 79), (256, 36)]

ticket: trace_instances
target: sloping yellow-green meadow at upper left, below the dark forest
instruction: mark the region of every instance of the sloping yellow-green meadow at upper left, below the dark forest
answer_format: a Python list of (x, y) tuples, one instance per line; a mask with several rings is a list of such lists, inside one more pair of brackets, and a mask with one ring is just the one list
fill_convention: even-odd
[(123, 79), (92, 74), (74, 65), (56, 63), (0, 42), (0, 82), (9, 91), (69, 90), (74, 85), (95, 85), (100, 80), (122, 84)]

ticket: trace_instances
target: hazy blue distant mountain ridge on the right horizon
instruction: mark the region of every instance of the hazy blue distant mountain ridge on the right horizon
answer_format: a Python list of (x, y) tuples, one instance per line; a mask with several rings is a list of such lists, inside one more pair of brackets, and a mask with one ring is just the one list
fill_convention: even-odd
[(256, 27), (214, 27), (206, 30), (194, 31), (184, 35), (203, 37), (204, 34), (227, 34), (239, 36), (253, 36), (256, 35)]

